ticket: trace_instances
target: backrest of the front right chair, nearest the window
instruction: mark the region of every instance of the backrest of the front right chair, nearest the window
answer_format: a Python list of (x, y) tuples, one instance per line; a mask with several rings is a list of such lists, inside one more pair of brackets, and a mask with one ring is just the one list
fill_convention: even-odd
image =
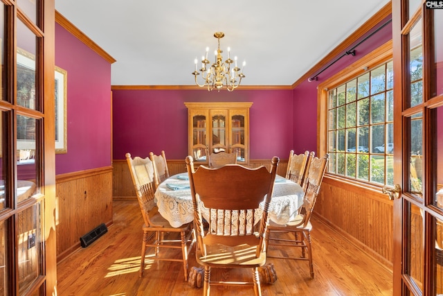
[(311, 219), (312, 211), (314, 211), (314, 205), (316, 204), (318, 192), (320, 192), (329, 154), (326, 153), (323, 157), (318, 158), (314, 157), (314, 153), (311, 153), (310, 158), (309, 168), (303, 182), (305, 197), (303, 198), (303, 204), (299, 211), (299, 213), (303, 215), (302, 222), (300, 223), (303, 227), (306, 227), (309, 219)]

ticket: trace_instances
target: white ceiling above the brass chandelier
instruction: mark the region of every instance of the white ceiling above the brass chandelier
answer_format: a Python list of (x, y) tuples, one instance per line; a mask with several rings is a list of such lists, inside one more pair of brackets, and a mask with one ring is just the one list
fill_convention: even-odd
[(55, 0), (111, 55), (111, 85), (194, 85), (194, 59), (221, 31), (242, 85), (292, 85), (389, 0)]

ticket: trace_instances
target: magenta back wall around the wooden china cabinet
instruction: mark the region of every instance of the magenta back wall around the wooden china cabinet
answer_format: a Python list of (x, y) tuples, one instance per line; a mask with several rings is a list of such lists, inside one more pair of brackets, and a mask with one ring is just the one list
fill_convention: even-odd
[(114, 159), (125, 153), (147, 157), (165, 150), (168, 159), (188, 155), (185, 102), (253, 102), (251, 159), (287, 159), (293, 143), (291, 90), (114, 90)]

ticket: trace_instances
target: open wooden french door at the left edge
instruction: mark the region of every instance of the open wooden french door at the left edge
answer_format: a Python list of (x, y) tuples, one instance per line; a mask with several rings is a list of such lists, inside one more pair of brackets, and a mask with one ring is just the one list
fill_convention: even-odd
[(0, 0), (0, 296), (57, 295), (54, 0)]

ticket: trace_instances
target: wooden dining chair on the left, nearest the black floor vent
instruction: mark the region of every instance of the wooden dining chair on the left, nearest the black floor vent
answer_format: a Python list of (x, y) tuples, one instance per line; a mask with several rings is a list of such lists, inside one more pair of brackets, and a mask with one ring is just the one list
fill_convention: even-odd
[[(183, 264), (185, 280), (187, 281), (188, 255), (192, 245), (195, 243), (195, 232), (192, 223), (175, 228), (159, 214), (154, 202), (154, 168), (149, 157), (144, 159), (134, 157), (132, 159), (131, 154), (126, 153), (126, 159), (144, 222), (139, 276), (142, 277), (145, 270), (146, 249), (147, 247), (152, 247), (154, 254), (149, 256), (150, 259), (181, 262)], [(180, 237), (178, 238), (178, 236)], [(181, 258), (177, 259), (173, 256), (161, 255), (161, 249), (164, 252), (171, 249), (181, 250)]]

